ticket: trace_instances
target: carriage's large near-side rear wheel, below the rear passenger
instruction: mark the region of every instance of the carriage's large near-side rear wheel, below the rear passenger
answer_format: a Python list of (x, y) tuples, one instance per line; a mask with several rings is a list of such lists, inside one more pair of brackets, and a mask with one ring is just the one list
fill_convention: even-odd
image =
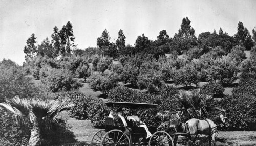
[(100, 145), (101, 146), (110, 146), (110, 145), (131, 146), (131, 141), (127, 134), (125, 134), (121, 130), (114, 129), (107, 132), (103, 136)]

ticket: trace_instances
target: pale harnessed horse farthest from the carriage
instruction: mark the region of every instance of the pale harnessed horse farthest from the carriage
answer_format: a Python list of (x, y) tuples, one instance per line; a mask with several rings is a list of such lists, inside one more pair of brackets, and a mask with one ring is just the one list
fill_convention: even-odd
[(211, 139), (215, 145), (216, 132), (218, 132), (217, 127), (219, 126), (219, 124), (225, 124), (225, 118), (226, 117), (224, 117), (221, 114), (216, 118), (216, 123), (214, 123), (214, 121), (208, 118), (206, 119), (192, 118), (186, 121), (185, 123), (186, 134), (189, 138), (187, 145), (189, 145), (190, 141), (192, 141), (192, 144), (193, 144), (198, 134), (208, 135), (209, 145), (211, 145)]

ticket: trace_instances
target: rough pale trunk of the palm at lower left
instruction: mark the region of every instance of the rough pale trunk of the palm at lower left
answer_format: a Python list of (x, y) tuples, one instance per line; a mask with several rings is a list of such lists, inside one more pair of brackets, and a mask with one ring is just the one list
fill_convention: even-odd
[(40, 129), (37, 120), (32, 123), (31, 135), (29, 138), (29, 146), (40, 145)]

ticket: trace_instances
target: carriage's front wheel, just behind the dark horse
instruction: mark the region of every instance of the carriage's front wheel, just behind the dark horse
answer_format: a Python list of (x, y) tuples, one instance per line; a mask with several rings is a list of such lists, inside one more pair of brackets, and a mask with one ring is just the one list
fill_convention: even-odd
[(151, 137), (150, 141), (148, 142), (149, 146), (153, 145), (166, 145), (172, 146), (174, 145), (172, 137), (165, 131), (157, 131)]

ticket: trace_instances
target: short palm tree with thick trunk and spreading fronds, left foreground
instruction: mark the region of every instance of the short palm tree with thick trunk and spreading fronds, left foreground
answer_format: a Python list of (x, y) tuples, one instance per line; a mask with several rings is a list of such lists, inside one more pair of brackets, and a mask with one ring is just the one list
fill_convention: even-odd
[(41, 126), (50, 128), (49, 126), (54, 122), (54, 118), (59, 112), (73, 106), (73, 104), (67, 102), (67, 99), (59, 102), (55, 100), (20, 99), (18, 96), (15, 96), (15, 98), (8, 103), (0, 103), (0, 105), (5, 107), (9, 113), (19, 117), (22, 121), (29, 119), (32, 126), (30, 130), (29, 146), (40, 145)]

